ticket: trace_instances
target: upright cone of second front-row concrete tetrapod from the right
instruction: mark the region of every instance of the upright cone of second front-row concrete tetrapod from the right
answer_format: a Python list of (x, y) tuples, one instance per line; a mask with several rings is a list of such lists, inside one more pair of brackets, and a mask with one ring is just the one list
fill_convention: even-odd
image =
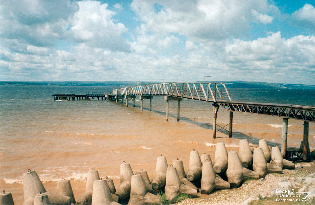
[(254, 149), (253, 170), (259, 174), (260, 178), (264, 177), (267, 174), (267, 162), (264, 152), (261, 148)]

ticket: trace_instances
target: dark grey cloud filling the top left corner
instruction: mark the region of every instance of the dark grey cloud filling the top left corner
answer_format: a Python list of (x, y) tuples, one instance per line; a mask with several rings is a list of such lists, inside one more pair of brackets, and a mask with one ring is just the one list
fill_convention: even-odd
[(52, 46), (66, 36), (67, 20), (78, 10), (69, 0), (12, 0), (0, 6), (0, 37), (34, 46)]

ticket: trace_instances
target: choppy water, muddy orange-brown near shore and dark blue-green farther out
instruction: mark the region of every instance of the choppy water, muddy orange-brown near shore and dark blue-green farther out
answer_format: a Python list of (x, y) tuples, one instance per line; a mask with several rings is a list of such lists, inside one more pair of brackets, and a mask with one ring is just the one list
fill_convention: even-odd
[[(163, 154), (171, 164), (177, 157), (188, 166), (189, 152), (214, 157), (215, 143), (225, 142), (237, 150), (238, 140), (253, 144), (260, 138), (281, 143), (282, 119), (248, 113), (234, 113), (233, 138), (221, 130), (212, 139), (211, 103), (182, 100), (180, 122), (176, 121), (177, 102), (166, 103), (153, 97), (140, 111), (136, 107), (102, 100), (54, 101), (54, 93), (85, 94), (109, 92), (103, 86), (27, 85), (0, 86), (0, 185), (11, 192), (14, 202), (23, 202), (22, 174), (36, 170), (47, 190), (54, 190), (62, 177), (71, 179), (75, 197), (84, 192), (89, 169), (100, 176), (112, 177), (119, 185), (119, 165), (129, 162), (134, 172), (141, 168), (153, 176), (157, 156)], [(315, 106), (315, 90), (311, 89), (228, 89), (235, 101), (271, 102)], [(228, 111), (220, 108), (217, 123), (229, 121)], [(315, 149), (315, 126), (310, 123), (309, 140)], [(299, 147), (303, 139), (303, 121), (290, 120), (288, 145)]]

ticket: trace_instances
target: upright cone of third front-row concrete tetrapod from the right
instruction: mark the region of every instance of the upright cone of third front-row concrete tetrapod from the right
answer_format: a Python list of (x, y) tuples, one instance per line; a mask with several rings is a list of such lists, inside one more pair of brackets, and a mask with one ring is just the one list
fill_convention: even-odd
[(243, 181), (243, 166), (237, 151), (228, 153), (226, 176), (232, 188), (238, 187)]

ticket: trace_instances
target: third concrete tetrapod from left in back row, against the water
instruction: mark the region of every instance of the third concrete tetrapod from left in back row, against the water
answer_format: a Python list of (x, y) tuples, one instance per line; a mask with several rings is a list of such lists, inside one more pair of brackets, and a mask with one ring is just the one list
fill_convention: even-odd
[(77, 204), (91, 204), (92, 202), (92, 192), (93, 192), (93, 182), (95, 180), (99, 180), (100, 175), (97, 170), (91, 169), (88, 172), (88, 176), (86, 179), (85, 192), (83, 196), (77, 199)]

